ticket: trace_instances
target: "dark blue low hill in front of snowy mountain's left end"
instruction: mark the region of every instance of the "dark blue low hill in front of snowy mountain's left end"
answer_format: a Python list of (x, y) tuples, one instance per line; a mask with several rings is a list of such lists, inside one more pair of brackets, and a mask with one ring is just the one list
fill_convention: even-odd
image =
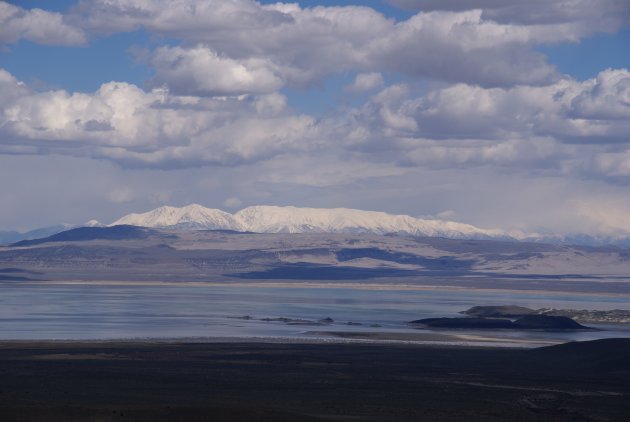
[(22, 240), (11, 246), (34, 246), (48, 242), (82, 242), (88, 240), (129, 240), (146, 239), (157, 232), (152, 229), (136, 226), (113, 226), (113, 227), (79, 227), (66, 230), (42, 239)]

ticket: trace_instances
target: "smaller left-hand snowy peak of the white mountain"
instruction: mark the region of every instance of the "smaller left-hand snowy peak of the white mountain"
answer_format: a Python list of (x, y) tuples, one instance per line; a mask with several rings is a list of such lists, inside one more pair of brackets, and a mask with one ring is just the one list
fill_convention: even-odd
[(142, 214), (129, 214), (110, 226), (120, 224), (156, 228), (177, 227), (187, 230), (244, 231), (232, 214), (197, 204), (182, 208), (164, 206)]

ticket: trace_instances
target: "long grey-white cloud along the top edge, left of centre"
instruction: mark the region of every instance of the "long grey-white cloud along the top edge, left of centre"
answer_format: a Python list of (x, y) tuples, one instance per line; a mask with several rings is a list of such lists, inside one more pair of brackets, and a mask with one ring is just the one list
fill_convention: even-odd
[(393, 22), (367, 7), (261, 5), (251, 0), (97, 0), (80, 2), (71, 19), (89, 31), (144, 28), (209, 45), (234, 60), (268, 59), (285, 80), (304, 85), (363, 61), (362, 47)]

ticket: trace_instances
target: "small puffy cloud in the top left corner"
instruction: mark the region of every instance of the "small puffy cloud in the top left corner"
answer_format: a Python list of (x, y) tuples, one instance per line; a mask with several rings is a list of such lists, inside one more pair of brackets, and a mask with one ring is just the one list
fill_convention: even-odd
[(83, 31), (68, 24), (59, 13), (26, 10), (0, 2), (0, 44), (20, 39), (48, 45), (80, 45), (86, 42)]

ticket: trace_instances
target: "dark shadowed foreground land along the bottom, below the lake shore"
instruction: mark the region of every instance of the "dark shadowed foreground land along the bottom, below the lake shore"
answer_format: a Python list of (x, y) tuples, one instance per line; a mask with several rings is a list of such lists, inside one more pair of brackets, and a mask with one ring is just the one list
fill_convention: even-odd
[(2, 421), (627, 421), (630, 340), (5, 343)]

